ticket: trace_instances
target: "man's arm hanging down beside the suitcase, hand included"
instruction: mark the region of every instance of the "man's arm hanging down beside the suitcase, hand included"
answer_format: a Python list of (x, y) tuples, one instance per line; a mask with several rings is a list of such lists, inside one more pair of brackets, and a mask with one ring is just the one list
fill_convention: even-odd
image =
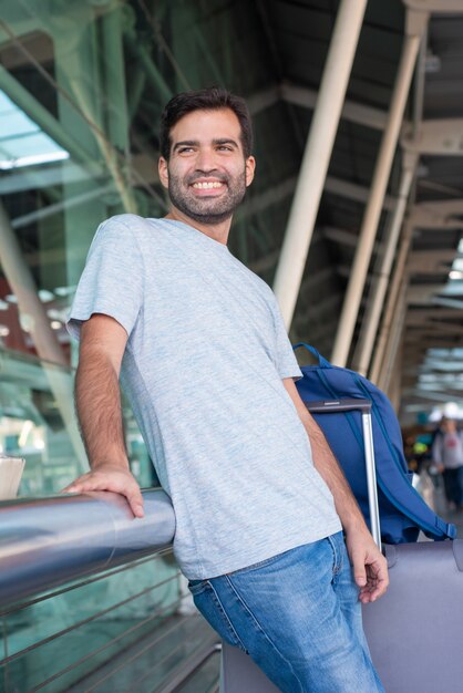
[(346, 532), (346, 544), (353, 566), (353, 576), (360, 587), (363, 603), (381, 597), (389, 585), (385, 558), (373, 541), (350, 486), (327, 443), (325, 435), (307, 411), (294, 380), (286, 377), (288, 391), (310, 439), (313, 464), (332, 493), (337, 513)]

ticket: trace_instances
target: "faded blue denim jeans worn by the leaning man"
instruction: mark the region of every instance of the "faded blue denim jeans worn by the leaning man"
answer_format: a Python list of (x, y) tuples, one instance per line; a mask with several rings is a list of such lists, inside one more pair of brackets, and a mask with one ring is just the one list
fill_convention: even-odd
[(384, 693), (341, 532), (189, 589), (219, 635), (284, 693)]

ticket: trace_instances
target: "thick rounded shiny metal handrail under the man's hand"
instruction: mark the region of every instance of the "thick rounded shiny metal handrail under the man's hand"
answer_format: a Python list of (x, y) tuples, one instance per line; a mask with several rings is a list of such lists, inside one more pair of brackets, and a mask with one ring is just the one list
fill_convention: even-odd
[(109, 492), (0, 503), (0, 604), (136, 560), (169, 546), (175, 516), (161, 489), (143, 492), (145, 517)]

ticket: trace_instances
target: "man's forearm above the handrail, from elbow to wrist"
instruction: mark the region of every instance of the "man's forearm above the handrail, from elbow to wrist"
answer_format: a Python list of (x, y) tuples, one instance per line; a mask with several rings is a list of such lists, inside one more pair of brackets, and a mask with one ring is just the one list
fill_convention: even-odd
[(75, 406), (91, 467), (110, 463), (127, 468), (117, 373), (97, 349), (81, 352)]

